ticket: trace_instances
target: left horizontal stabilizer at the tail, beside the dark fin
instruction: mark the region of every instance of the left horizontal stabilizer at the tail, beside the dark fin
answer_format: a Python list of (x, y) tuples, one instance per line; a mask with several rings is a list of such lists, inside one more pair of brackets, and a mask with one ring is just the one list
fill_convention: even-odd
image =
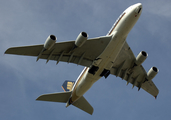
[(41, 95), (36, 100), (66, 103), (70, 96), (71, 92), (52, 93)]

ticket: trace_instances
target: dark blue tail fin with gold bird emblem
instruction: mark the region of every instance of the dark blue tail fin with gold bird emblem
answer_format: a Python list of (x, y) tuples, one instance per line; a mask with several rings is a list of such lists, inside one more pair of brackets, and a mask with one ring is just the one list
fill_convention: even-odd
[(74, 86), (74, 81), (68, 81), (66, 80), (63, 85), (62, 85), (62, 88), (64, 91), (71, 91), (73, 86)]

